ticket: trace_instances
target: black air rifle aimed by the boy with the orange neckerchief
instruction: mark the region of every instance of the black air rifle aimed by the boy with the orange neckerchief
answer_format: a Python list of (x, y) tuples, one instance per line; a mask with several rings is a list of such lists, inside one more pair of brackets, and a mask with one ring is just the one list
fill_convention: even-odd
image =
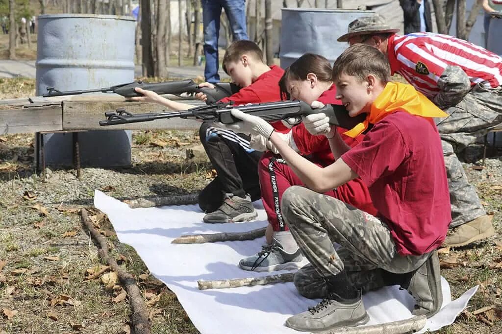
[(216, 103), (213, 105), (200, 106), (184, 111), (162, 111), (158, 113), (133, 114), (126, 111), (124, 108), (119, 108), (116, 111), (105, 112), (106, 120), (99, 121), (99, 125), (115, 125), (125, 123), (147, 122), (162, 118), (185, 118), (185, 119), (200, 119), (213, 120), (224, 124), (232, 124), (241, 120), (235, 118), (231, 114), (232, 108), (238, 108), (242, 112), (246, 112), (265, 119), (272, 123), (281, 119), (289, 121), (295, 119), (293, 124), (301, 121), (301, 116), (308, 114), (316, 114), (323, 112), (329, 117), (329, 122), (333, 125), (351, 129), (356, 124), (362, 122), (366, 118), (366, 114), (360, 114), (356, 117), (350, 117), (344, 106), (338, 104), (327, 104), (322, 108), (312, 108), (308, 103), (295, 101), (279, 101), (248, 104), (242, 106), (234, 106), (232, 102)]

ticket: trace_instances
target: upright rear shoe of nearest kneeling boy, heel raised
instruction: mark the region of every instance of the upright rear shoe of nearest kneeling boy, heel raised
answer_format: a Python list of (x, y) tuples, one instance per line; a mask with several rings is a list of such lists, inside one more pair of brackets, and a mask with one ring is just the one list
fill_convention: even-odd
[(439, 312), (443, 304), (443, 290), (437, 251), (432, 252), (418, 268), (407, 289), (417, 302), (411, 312), (413, 315), (426, 315), (429, 318)]

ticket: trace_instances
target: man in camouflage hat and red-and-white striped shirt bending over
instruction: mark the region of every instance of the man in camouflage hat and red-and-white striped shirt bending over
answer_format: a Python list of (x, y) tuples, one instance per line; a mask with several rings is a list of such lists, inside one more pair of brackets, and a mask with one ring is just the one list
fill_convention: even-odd
[(450, 228), (456, 228), (443, 245), (459, 247), (488, 238), (494, 234), (492, 217), (486, 215), (455, 152), (502, 122), (502, 57), (447, 35), (400, 36), (397, 31), (380, 15), (372, 15), (352, 21), (338, 41), (379, 49), (392, 74), (402, 75), (449, 114), (436, 119), (452, 205)]

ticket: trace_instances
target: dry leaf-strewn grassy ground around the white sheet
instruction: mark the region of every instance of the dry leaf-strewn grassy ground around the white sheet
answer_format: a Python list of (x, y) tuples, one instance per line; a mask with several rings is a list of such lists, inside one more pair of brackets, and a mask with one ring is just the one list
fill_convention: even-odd
[[(34, 87), (31, 79), (0, 79), (0, 98), (33, 95)], [(134, 131), (131, 168), (84, 168), (81, 180), (74, 170), (48, 168), (43, 180), (34, 169), (34, 135), (0, 136), (0, 333), (129, 332), (131, 310), (112, 275), (87, 279), (103, 264), (80, 224), (81, 208), (90, 210), (115, 259), (136, 277), (152, 331), (196, 333), (176, 296), (149, 274), (134, 249), (117, 241), (92, 203), (95, 189), (118, 199), (202, 189), (214, 173), (207, 162), (185, 159), (186, 148), (197, 143), (195, 131)], [(482, 145), (475, 145), (462, 158), (486, 211), (494, 214), (497, 235), (442, 250), (452, 298), (479, 285), (467, 309), (442, 333), (502, 332), (502, 158), (493, 149), (488, 155), (483, 165)]]

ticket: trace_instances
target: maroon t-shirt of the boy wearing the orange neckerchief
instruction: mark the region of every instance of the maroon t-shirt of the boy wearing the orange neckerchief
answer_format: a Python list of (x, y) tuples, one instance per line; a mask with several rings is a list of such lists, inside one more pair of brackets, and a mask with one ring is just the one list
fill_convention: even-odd
[(441, 245), (451, 206), (435, 125), (395, 112), (376, 122), (341, 158), (368, 186), (399, 254), (421, 255)]

